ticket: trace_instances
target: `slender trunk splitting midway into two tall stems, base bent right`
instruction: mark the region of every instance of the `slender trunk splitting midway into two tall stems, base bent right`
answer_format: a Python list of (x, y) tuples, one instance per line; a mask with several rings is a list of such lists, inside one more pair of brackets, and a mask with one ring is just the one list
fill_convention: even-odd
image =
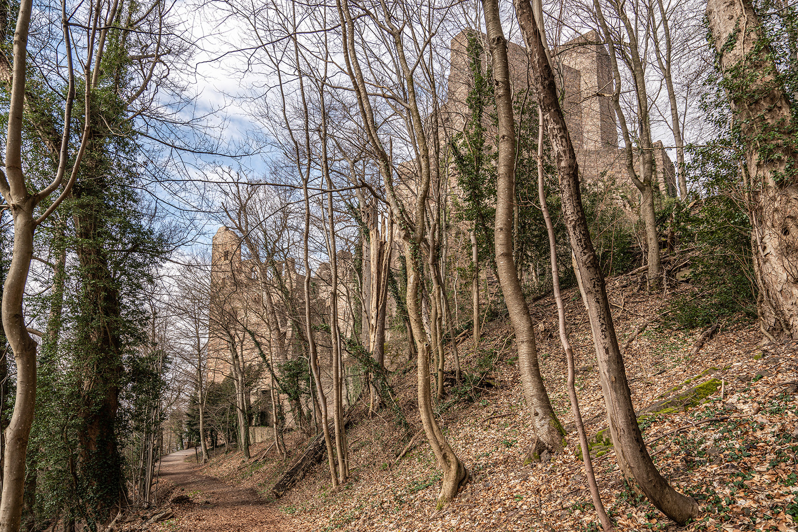
[[(468, 479), (468, 471), (457, 458), (452, 447), (449, 446), (443, 431), (435, 420), (433, 412), (433, 400), (431, 379), (429, 375), (429, 340), (421, 320), (421, 304), (419, 301), (419, 286), (421, 284), (421, 246), (425, 236), (425, 204), (429, 193), (430, 181), (430, 156), (429, 146), (424, 132), (424, 122), (418, 110), (416, 100), (416, 89), (413, 82), (413, 70), (409, 68), (408, 61), (404, 53), (404, 26), (397, 26), (393, 20), (393, 14), (384, 11), (379, 22), (379, 30), (386, 33), (386, 37), (393, 41), (396, 54), (397, 68), (401, 73), (402, 89), (406, 91), (405, 101), (408, 104), (408, 116), (406, 123), (409, 132), (412, 133), (416, 142), (415, 148), (419, 154), (418, 160), (421, 166), (421, 183), (417, 189), (417, 197), (413, 208), (413, 219), (410, 219), (405, 211), (405, 206), (393, 189), (393, 165), (388, 152), (377, 134), (377, 120), (374, 116), (373, 108), (369, 100), (369, 89), (365, 83), (363, 72), (358, 60), (356, 51), (357, 43), (354, 33), (354, 17), (350, 11), (347, 0), (337, 0), (338, 15), (341, 21), (342, 48), (343, 56), (346, 61), (346, 70), (350, 77), (354, 93), (358, 101), (358, 110), (366, 135), (373, 152), (377, 157), (377, 164), (380, 167), (380, 174), (385, 185), (385, 192), (388, 199), (391, 214), (393, 215), (396, 226), (401, 231), (401, 238), (405, 246), (405, 266), (407, 268), (407, 313), (410, 330), (417, 348), (417, 396), (418, 408), (421, 414), (421, 424), (424, 426), (425, 434), (430, 447), (437, 458), (438, 465), (443, 471), (443, 482), (441, 483), (438, 502), (444, 503), (454, 499), (458, 487)], [(373, 14), (365, 14), (365, 17), (373, 18)], [(416, 43), (421, 45), (421, 43)], [(434, 164), (438, 164), (434, 161)]]

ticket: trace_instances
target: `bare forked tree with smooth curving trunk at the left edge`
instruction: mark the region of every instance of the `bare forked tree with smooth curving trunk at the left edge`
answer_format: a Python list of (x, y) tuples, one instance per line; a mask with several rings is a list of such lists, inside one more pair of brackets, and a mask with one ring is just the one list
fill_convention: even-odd
[[(6, 133), (6, 160), (4, 173), (0, 173), (0, 193), (9, 206), (14, 220), (14, 250), (11, 264), (6, 275), (6, 284), (2, 298), (2, 321), (9, 345), (14, 352), (17, 363), (17, 392), (14, 401), (14, 413), (6, 429), (6, 446), (3, 449), (3, 484), (2, 500), (0, 500), (0, 530), (17, 532), (22, 515), (22, 495), (25, 489), (25, 455), (30, 427), (33, 423), (34, 404), (36, 402), (36, 351), (37, 344), (30, 337), (22, 311), (22, 300), (25, 292), (30, 261), (33, 257), (34, 232), (37, 227), (55, 211), (58, 205), (69, 194), (81, 159), (89, 142), (89, 124), (92, 112), (92, 93), (97, 84), (96, 73), (98, 63), (105, 47), (105, 37), (110, 21), (115, 15), (116, 6), (106, 6), (102, 2), (92, 2), (89, 6), (90, 21), (85, 28), (91, 45), (86, 49), (87, 55), (81, 59), (84, 67), (84, 128), (81, 144), (73, 156), (70, 148), (70, 125), (75, 97), (75, 73), (73, 69), (72, 24), (67, 17), (66, 5), (61, 4), (63, 18), (62, 30), (65, 39), (68, 88), (64, 104), (64, 129), (57, 147), (57, 171), (53, 180), (38, 191), (30, 191), (28, 182), (32, 175), (26, 175), (26, 167), (22, 159), (22, 130), (26, 111), (26, 65), (27, 45), (30, 30), (30, 17), (33, 9), (31, 0), (22, 0), (19, 5), (17, 24), (14, 30), (14, 58), (11, 68), (6, 61), (6, 80), (10, 77), (10, 107), (8, 131)], [(74, 14), (73, 14), (74, 16)], [(69, 162), (72, 160), (72, 167)], [(64, 176), (69, 179), (64, 184)], [(35, 176), (38, 177), (38, 176)], [(61, 185), (64, 184), (63, 187)], [(36, 208), (43, 200), (61, 188), (60, 194), (46, 208), (38, 213)]]

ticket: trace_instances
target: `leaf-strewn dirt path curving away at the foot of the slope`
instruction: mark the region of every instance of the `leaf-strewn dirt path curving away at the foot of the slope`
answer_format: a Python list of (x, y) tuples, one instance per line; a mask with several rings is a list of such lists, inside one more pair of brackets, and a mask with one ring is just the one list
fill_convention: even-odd
[[(166, 497), (172, 501), (169, 506), (175, 517), (150, 525), (147, 530), (288, 532), (293, 529), (285, 516), (255, 490), (231, 486), (199, 473), (194, 455), (194, 449), (187, 449), (161, 459), (158, 476), (168, 483)], [(189, 457), (192, 459), (187, 461)]]

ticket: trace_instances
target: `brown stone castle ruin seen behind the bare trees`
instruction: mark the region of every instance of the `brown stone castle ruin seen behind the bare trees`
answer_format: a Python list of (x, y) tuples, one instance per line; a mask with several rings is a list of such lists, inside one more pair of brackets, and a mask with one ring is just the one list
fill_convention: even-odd
[[(487, 49), (487, 46), (484, 46)], [(461, 32), (452, 39), (451, 70), (448, 77), (447, 101), (440, 108), (440, 120), (444, 128), (454, 135), (462, 132), (468, 120), (468, 93), (473, 83), (469, 71), (468, 33)], [(527, 54), (519, 45), (508, 44), (511, 80), (515, 91), (529, 87)], [(571, 133), (582, 179), (584, 182), (604, 184), (612, 187), (618, 202), (623, 205), (630, 219), (635, 219), (638, 191), (626, 175), (626, 162), (622, 148), (618, 147), (618, 128), (609, 97), (612, 87), (610, 60), (606, 49), (599, 44), (594, 32), (587, 33), (555, 49), (555, 63), (559, 85), (563, 91), (563, 112)], [(483, 61), (486, 61), (484, 54)], [(536, 135), (536, 132), (535, 132)], [(675, 195), (674, 165), (662, 147), (654, 144), (657, 182), (663, 195)], [(412, 171), (409, 171), (412, 173)], [(411, 177), (411, 176), (408, 176)], [(456, 181), (456, 179), (455, 179)], [(403, 179), (402, 195), (413, 195), (411, 179)], [(449, 183), (451, 195), (460, 190), (456, 183)], [(372, 209), (373, 211), (373, 209)], [(377, 216), (377, 218), (379, 218)], [(380, 223), (377, 221), (377, 225)], [(381, 224), (385, 232), (385, 220)], [(390, 225), (390, 224), (389, 224)], [(392, 227), (392, 226), (390, 226)], [(399, 243), (393, 229), (387, 235), (385, 252), (392, 268), (397, 267)], [(264, 357), (271, 357), (271, 368), (279, 367), (282, 361), (302, 357), (302, 328), (304, 321), (304, 273), (298, 273), (292, 260), (278, 265), (264, 265), (251, 258), (242, 258), (242, 240), (235, 231), (219, 228), (213, 238), (211, 287), (210, 338), (208, 341), (209, 376), (212, 382), (220, 382), (225, 376), (235, 376), (235, 365), (264, 365)], [(371, 260), (369, 250), (364, 250), (363, 270)], [(313, 286), (312, 301), (314, 320), (319, 326), (329, 319), (330, 298), (338, 298), (339, 327), (342, 337), (350, 337), (355, 322), (368, 329), (371, 323), (368, 305), (353, 309), (346, 304), (343, 290), (358, 290), (351, 254), (342, 252), (338, 257), (339, 276), (342, 286), (339, 294), (331, 294), (330, 267), (322, 263), (316, 272), (311, 272)], [(364, 279), (368, 285), (368, 280)], [(293, 301), (286, 305), (284, 301)], [(395, 302), (389, 301), (390, 317), (396, 314)], [(361, 313), (361, 315), (357, 315)], [(386, 341), (390, 338), (386, 337)], [(274, 349), (279, 344), (279, 349)], [(367, 345), (368, 342), (364, 341)], [(267, 349), (271, 348), (271, 349)], [(322, 373), (330, 367), (330, 349), (322, 346), (319, 362)], [(328, 360), (330, 359), (330, 360)], [(237, 361), (236, 361), (237, 360)], [(346, 395), (354, 394), (359, 386), (347, 380)], [(331, 384), (330, 384), (331, 387)], [(249, 397), (252, 406), (250, 423), (251, 440), (262, 441), (271, 433), (267, 426), (273, 424), (271, 397), (276, 388), (268, 371), (262, 371), (258, 382), (251, 386)], [(350, 388), (353, 388), (350, 390)], [(352, 398), (354, 399), (354, 397)], [(312, 417), (312, 405), (286, 404), (286, 396), (279, 396), (284, 404), (287, 424), (300, 424), (302, 416)], [(297, 412), (299, 409), (299, 412)], [(302, 412), (304, 409), (304, 413)], [(294, 412), (288, 415), (288, 412)]]

